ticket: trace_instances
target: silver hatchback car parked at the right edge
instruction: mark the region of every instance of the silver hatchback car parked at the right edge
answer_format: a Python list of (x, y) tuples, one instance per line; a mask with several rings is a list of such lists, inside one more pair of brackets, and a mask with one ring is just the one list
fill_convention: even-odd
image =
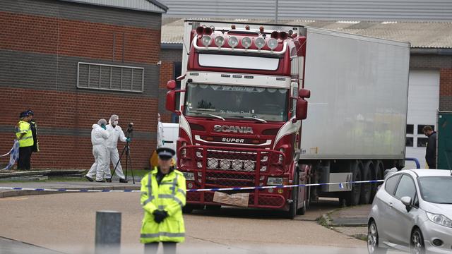
[(452, 171), (402, 170), (386, 176), (369, 214), (367, 249), (452, 253)]

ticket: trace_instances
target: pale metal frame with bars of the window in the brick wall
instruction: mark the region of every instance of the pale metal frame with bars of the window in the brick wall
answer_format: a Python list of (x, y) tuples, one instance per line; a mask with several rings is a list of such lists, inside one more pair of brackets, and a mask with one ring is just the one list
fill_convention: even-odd
[[(80, 66), (86, 65), (88, 66), (88, 87), (81, 87), (80, 86)], [(100, 87), (100, 81), (102, 79), (102, 76), (99, 75), (99, 87), (90, 87), (90, 67), (91, 66), (99, 66), (99, 73), (101, 73), (100, 69), (102, 66), (109, 67), (110, 73), (109, 73), (109, 88), (102, 88)], [(121, 88), (120, 89), (114, 89), (112, 88), (112, 68), (121, 68)], [(126, 90), (122, 87), (122, 79), (123, 79), (123, 70), (124, 68), (131, 69), (132, 77), (131, 77), (131, 87), (129, 90)], [(133, 90), (133, 70), (141, 70), (141, 90)], [(119, 66), (114, 64), (105, 64), (105, 63), (88, 63), (88, 62), (78, 62), (77, 63), (77, 88), (78, 89), (87, 89), (87, 90), (104, 90), (104, 91), (117, 91), (117, 92), (135, 92), (135, 93), (143, 93), (144, 92), (144, 68), (143, 67), (136, 67), (136, 66)]]

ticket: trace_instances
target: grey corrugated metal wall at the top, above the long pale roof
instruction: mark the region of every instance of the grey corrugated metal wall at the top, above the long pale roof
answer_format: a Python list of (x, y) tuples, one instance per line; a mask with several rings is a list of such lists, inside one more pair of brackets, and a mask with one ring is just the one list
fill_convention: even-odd
[[(274, 18), (276, 0), (160, 0), (166, 16)], [(279, 19), (452, 21), (451, 0), (278, 0)]]

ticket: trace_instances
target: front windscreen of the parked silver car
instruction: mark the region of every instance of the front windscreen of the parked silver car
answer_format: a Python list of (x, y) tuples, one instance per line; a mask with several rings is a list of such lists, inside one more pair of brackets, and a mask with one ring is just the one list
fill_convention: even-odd
[(439, 204), (452, 204), (452, 176), (423, 176), (419, 178), (422, 199)]

